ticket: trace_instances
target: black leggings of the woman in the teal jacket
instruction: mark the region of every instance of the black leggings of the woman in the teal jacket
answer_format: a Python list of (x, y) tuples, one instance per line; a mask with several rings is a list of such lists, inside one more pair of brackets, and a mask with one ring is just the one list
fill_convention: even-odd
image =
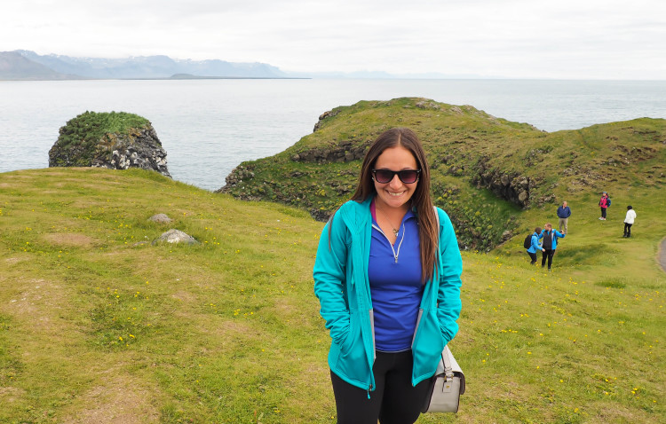
[[(412, 352), (377, 352), (373, 373), (377, 388), (369, 392), (330, 373), (336, 396), (338, 424), (411, 424), (430, 389), (426, 379), (412, 386)], [(369, 397), (369, 398), (368, 398)]]

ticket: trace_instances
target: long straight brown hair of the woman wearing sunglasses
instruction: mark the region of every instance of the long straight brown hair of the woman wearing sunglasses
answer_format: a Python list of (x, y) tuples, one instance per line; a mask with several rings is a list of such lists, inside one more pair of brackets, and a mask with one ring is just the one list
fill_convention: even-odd
[(399, 145), (414, 155), (418, 169), (421, 169), (411, 202), (412, 207), (416, 209), (418, 219), (418, 239), (421, 244), (421, 275), (425, 283), (432, 278), (432, 272), (435, 263), (437, 263), (440, 229), (437, 225), (438, 219), (435, 216), (430, 197), (430, 169), (428, 168), (428, 162), (425, 160), (423, 145), (421, 145), (413, 130), (408, 128), (386, 130), (370, 145), (368, 153), (363, 158), (359, 184), (356, 186), (352, 200), (363, 202), (370, 196), (377, 194), (375, 184), (372, 181), (372, 169), (375, 168), (375, 163), (380, 154), (390, 147)]

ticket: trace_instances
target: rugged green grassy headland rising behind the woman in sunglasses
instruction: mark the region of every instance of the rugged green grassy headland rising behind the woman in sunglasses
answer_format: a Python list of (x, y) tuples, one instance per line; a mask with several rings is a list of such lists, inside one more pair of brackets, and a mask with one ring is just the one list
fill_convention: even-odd
[(421, 137), (434, 201), (470, 249), (489, 250), (523, 231), (524, 208), (553, 208), (602, 190), (613, 197), (611, 187), (666, 186), (666, 120), (547, 133), (472, 106), (396, 98), (329, 111), (284, 152), (243, 162), (223, 192), (280, 201), (325, 220), (353, 192), (369, 144), (396, 126)]

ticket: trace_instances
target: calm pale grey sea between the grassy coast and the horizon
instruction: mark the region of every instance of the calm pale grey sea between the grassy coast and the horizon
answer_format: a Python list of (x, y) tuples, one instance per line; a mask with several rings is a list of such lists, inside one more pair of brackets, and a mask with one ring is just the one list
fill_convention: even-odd
[(320, 114), (361, 100), (400, 97), (471, 105), (549, 132), (640, 117), (666, 118), (666, 81), (0, 82), (0, 172), (48, 167), (48, 152), (59, 128), (78, 114), (129, 112), (153, 123), (174, 179), (217, 190), (242, 161), (279, 153), (310, 134)]

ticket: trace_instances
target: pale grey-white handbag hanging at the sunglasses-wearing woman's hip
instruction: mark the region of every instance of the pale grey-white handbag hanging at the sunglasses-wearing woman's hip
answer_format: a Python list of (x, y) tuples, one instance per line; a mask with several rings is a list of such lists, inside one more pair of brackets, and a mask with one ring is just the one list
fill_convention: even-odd
[(463, 369), (448, 346), (441, 351), (440, 364), (431, 378), (429, 396), (422, 412), (458, 412), (460, 395), (464, 393)]

